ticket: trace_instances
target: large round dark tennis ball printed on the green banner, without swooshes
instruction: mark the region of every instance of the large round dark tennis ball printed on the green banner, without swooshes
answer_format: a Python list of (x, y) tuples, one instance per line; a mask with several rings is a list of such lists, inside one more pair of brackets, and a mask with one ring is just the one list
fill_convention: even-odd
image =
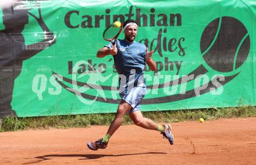
[(230, 72), (247, 59), (250, 37), (239, 20), (221, 17), (211, 21), (205, 28), (200, 48), (209, 67), (220, 72)]

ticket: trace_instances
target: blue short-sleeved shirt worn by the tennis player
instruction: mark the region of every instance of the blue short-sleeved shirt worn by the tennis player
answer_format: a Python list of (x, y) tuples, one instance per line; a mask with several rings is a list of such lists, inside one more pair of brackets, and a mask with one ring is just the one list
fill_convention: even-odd
[[(106, 45), (112, 48), (112, 44)], [(146, 46), (139, 42), (127, 42), (125, 40), (116, 40), (118, 53), (113, 56), (116, 70), (119, 74), (119, 87), (127, 88), (145, 87), (143, 70), (145, 68)], [(126, 81), (123, 81), (126, 78)]]

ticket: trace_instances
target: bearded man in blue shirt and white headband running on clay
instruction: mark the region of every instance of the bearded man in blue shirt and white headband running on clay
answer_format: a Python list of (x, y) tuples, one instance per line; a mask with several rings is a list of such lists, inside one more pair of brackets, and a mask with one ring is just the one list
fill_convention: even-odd
[(112, 121), (105, 137), (95, 142), (89, 142), (87, 146), (91, 150), (105, 149), (109, 138), (122, 125), (126, 113), (129, 114), (134, 124), (148, 130), (158, 130), (163, 134), (163, 137), (168, 139), (170, 145), (173, 145), (174, 139), (170, 124), (156, 124), (154, 121), (143, 117), (140, 112), (140, 100), (144, 97), (146, 91), (143, 76), (145, 63), (148, 64), (150, 70), (157, 71), (157, 64), (152, 59), (154, 51), (148, 52), (145, 45), (134, 41), (138, 30), (135, 20), (126, 20), (123, 27), (125, 39), (117, 40), (116, 48), (112, 48), (112, 44), (108, 44), (97, 52), (98, 58), (103, 58), (106, 55), (113, 56), (119, 74), (119, 94), (122, 101), (119, 103), (115, 119)]

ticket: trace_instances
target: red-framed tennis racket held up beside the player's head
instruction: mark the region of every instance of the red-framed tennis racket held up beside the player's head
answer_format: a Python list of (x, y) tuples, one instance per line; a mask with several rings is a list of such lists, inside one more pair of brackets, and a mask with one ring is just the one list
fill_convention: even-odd
[(111, 24), (104, 30), (103, 38), (104, 40), (110, 41), (112, 43), (113, 49), (116, 48), (116, 39), (118, 38), (118, 35), (121, 33), (122, 28), (122, 23), (120, 23), (120, 21), (115, 21), (113, 24)]

